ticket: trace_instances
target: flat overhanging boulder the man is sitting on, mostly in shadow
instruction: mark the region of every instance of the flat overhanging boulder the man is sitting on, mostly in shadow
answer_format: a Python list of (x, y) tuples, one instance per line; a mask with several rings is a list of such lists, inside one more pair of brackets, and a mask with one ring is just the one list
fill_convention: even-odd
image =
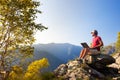
[(90, 66), (98, 69), (103, 69), (106, 65), (115, 63), (115, 59), (107, 54), (87, 55), (85, 61)]

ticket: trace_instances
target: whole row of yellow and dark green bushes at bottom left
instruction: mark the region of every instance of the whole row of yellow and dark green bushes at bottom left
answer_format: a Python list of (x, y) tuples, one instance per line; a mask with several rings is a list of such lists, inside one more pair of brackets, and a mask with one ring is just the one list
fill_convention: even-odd
[[(8, 80), (48, 80), (53, 77), (52, 73), (42, 73), (41, 69), (48, 67), (46, 58), (32, 62), (26, 71), (19, 66), (13, 66)], [(48, 79), (47, 79), (48, 78)]]

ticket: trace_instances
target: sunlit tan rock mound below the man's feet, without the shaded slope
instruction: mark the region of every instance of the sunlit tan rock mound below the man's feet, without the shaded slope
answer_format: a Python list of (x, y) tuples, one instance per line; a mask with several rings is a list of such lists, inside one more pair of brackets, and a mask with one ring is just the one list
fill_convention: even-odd
[(54, 70), (54, 74), (58, 77), (64, 77), (65, 80), (86, 80), (86, 78), (92, 78), (90, 74), (82, 68), (82, 63), (76, 60), (60, 65)]

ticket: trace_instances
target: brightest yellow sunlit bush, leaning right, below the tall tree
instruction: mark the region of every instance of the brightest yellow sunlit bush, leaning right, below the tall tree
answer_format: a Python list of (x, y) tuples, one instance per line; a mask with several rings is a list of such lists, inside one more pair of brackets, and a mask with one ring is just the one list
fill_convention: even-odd
[(32, 62), (24, 75), (24, 80), (41, 80), (40, 69), (49, 65), (48, 60), (43, 58)]

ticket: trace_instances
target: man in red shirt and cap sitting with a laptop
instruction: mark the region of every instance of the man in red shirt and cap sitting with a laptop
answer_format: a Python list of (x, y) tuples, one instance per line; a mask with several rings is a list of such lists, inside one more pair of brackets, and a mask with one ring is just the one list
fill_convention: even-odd
[(80, 59), (84, 59), (84, 57), (87, 54), (95, 54), (95, 53), (100, 52), (100, 47), (103, 46), (103, 41), (102, 41), (101, 37), (98, 36), (98, 31), (97, 30), (93, 30), (91, 32), (91, 34), (92, 34), (92, 37), (93, 37), (92, 45), (91, 45), (90, 48), (84, 48), (81, 51), (80, 56), (79, 56)]

